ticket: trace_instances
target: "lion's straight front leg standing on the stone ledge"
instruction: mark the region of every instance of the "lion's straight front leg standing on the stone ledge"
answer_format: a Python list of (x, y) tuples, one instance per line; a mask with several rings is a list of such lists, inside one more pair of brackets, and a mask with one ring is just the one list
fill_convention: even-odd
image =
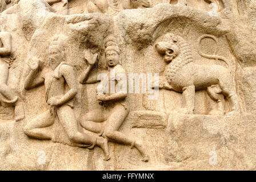
[(195, 102), (195, 86), (190, 85), (182, 89), (182, 104), (183, 108), (178, 109), (181, 114), (193, 114)]

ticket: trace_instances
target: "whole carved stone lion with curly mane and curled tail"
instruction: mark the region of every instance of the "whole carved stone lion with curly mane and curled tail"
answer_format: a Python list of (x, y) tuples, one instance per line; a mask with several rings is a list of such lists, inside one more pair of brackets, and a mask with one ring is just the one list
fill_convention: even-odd
[[(199, 42), (206, 37), (214, 39), (213, 36), (207, 35), (202, 36)], [(203, 89), (206, 89), (210, 98), (218, 103), (218, 109), (211, 110), (210, 114), (225, 114), (221, 93), (229, 101), (230, 113), (239, 110), (238, 97), (229, 68), (221, 65), (195, 64), (190, 45), (181, 36), (174, 34), (164, 35), (163, 41), (156, 43), (155, 48), (167, 63), (164, 77), (159, 81), (159, 88), (182, 93), (183, 108), (178, 109), (179, 113), (193, 114), (195, 90)], [(201, 51), (198, 53), (209, 59), (227, 62), (221, 56), (210, 56)]]

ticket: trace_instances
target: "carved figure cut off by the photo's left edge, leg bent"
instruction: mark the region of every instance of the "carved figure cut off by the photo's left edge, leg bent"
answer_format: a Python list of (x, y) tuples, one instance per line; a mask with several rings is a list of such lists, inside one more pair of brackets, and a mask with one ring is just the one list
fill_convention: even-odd
[(5, 107), (15, 106), (15, 121), (20, 121), (25, 118), (23, 103), (14, 90), (7, 85), (12, 60), (5, 56), (11, 53), (11, 34), (0, 32), (0, 39), (0, 102)]

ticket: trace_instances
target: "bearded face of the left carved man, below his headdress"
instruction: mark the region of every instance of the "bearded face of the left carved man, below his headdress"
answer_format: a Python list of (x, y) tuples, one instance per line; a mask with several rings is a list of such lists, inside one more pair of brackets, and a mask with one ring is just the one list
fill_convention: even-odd
[(62, 62), (63, 57), (62, 57), (62, 53), (59, 50), (59, 47), (56, 45), (54, 46), (50, 46), (49, 48), (49, 54), (50, 54), (50, 67), (51, 69), (55, 69), (58, 67), (58, 65)]

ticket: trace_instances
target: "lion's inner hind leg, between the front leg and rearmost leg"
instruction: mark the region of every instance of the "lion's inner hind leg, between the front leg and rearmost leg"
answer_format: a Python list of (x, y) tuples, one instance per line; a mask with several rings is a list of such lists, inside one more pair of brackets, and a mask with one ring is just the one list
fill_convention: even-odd
[(221, 98), (222, 98), (222, 90), (219, 87), (219, 85), (211, 85), (207, 88), (207, 94), (210, 96), (210, 98), (217, 102), (217, 109), (213, 109), (210, 111), (210, 115), (224, 115), (225, 114), (225, 110), (223, 107), (223, 104), (221, 102)]

